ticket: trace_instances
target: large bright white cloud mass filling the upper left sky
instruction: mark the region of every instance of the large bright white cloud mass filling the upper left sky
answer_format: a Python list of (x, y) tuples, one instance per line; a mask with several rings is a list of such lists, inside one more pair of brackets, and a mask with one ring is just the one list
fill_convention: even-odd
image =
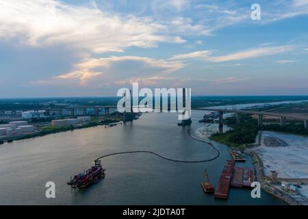
[(185, 42), (179, 36), (160, 34), (166, 28), (149, 17), (120, 16), (95, 5), (0, 0), (0, 38), (17, 38), (31, 47), (66, 43), (106, 53), (132, 46), (155, 47), (159, 42)]

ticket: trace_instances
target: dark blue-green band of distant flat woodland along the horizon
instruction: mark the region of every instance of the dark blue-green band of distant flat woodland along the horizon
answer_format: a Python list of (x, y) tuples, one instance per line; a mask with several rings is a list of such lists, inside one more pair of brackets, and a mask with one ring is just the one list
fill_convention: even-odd
[[(0, 110), (41, 110), (46, 107), (64, 107), (65, 104), (82, 106), (117, 105), (120, 98), (122, 97), (110, 96), (40, 99), (0, 99)], [(139, 100), (143, 98), (144, 97), (140, 97)], [(238, 105), (244, 103), (270, 103), (279, 101), (303, 100), (308, 100), (308, 96), (192, 96), (192, 107), (214, 107), (218, 105)], [(155, 104), (154, 100), (152, 104)]]

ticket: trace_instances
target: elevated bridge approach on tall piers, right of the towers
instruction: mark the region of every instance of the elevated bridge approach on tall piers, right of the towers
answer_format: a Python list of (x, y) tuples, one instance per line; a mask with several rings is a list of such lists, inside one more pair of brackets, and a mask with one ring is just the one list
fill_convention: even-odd
[(227, 110), (227, 109), (218, 109), (218, 108), (193, 108), (192, 110), (202, 110), (202, 111), (212, 111), (212, 112), (219, 112), (219, 131), (222, 133), (223, 130), (223, 114), (224, 112), (227, 113), (235, 113), (236, 114), (236, 123), (238, 125), (241, 123), (241, 115), (248, 114), (248, 115), (257, 115), (258, 116), (258, 125), (260, 128), (263, 127), (263, 117), (264, 116), (274, 116), (280, 118), (280, 125), (281, 127), (286, 125), (287, 118), (292, 118), (295, 120), (300, 120), (305, 123), (305, 129), (308, 129), (308, 118), (302, 116), (293, 116), (288, 114), (280, 114), (280, 113), (273, 113), (273, 112), (263, 112), (263, 111), (251, 111), (251, 110)]

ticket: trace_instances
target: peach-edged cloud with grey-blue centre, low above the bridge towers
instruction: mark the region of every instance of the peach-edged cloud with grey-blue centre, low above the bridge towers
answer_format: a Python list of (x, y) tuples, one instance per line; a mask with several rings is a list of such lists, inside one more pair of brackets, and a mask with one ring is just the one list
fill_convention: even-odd
[[(75, 65), (75, 70), (51, 79), (33, 83), (58, 83), (59, 81), (79, 81), (79, 86), (103, 84), (123, 84), (142, 79), (159, 77), (183, 68), (178, 61), (155, 60), (139, 56), (111, 56), (90, 58)], [(161, 76), (162, 77), (162, 76)]]

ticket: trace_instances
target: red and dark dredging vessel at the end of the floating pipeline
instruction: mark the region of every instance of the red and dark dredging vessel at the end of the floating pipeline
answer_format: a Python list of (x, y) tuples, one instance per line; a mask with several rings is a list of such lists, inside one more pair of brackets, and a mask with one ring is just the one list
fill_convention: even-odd
[(71, 185), (72, 188), (88, 188), (89, 185), (95, 184), (99, 181), (99, 179), (105, 178), (105, 170), (101, 165), (100, 160), (95, 161), (95, 165), (92, 168), (86, 170), (79, 175), (71, 178), (68, 181), (68, 185)]

